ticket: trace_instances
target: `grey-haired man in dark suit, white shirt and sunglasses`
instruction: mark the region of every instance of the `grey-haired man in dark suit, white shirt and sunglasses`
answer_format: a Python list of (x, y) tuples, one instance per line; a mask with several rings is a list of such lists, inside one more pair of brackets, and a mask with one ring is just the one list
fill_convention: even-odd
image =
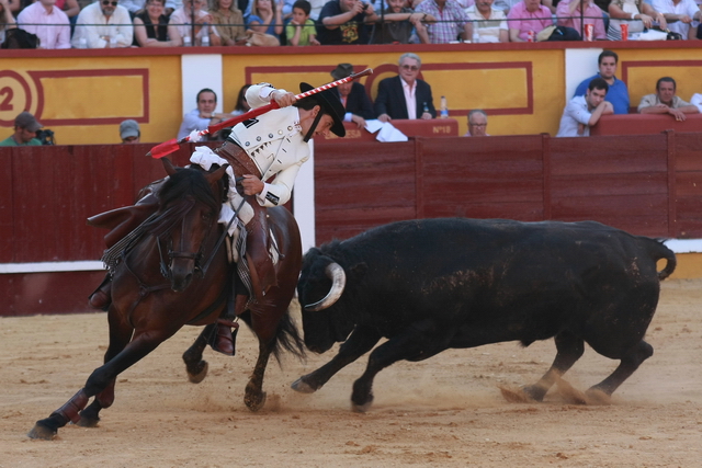
[(393, 118), (437, 117), (431, 87), (417, 78), (421, 68), (421, 58), (417, 54), (403, 54), (399, 58), (399, 75), (385, 78), (377, 87), (375, 114), (381, 122)]

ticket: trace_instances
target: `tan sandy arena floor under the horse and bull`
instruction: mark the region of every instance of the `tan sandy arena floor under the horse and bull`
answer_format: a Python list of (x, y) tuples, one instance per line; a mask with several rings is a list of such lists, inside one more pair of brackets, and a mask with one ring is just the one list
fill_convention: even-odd
[[(0, 318), (0, 467), (698, 467), (702, 459), (702, 281), (663, 283), (646, 340), (653, 357), (611, 404), (573, 404), (556, 389), (543, 403), (511, 403), (500, 388), (533, 384), (553, 341), (500, 343), (398, 363), (375, 379), (365, 414), (350, 411), (367, 356), (313, 395), (290, 384), (331, 358), (310, 354), (269, 366), (268, 402), (244, 406), (256, 341), (237, 356), (207, 350), (210, 375), (188, 381), (186, 328), (117, 379), (97, 429), (66, 426), (55, 441), (26, 432), (64, 404), (102, 362), (104, 313)], [(336, 351), (336, 350), (332, 350)], [(565, 375), (579, 395), (616, 362), (586, 349)], [(563, 387), (566, 388), (566, 387)]]

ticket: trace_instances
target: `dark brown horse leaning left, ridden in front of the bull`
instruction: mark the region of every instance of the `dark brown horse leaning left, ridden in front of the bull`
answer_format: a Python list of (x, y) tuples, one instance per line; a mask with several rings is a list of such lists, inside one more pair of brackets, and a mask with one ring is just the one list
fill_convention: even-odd
[[(159, 191), (159, 209), (141, 226), (144, 233), (124, 251), (114, 270), (104, 364), (63, 407), (36, 422), (27, 434), (32, 438), (54, 438), (69, 421), (95, 426), (100, 411), (114, 401), (117, 375), (184, 324), (208, 326), (183, 355), (191, 380), (204, 378), (204, 336), (226, 307), (236, 275), (220, 242), (224, 229), (217, 224), (226, 168), (210, 173), (199, 168), (177, 169), (165, 158), (163, 165), (170, 178)], [(268, 292), (264, 305), (240, 315), (259, 339), (259, 358), (245, 396), (245, 403), (253, 411), (265, 401), (262, 386), (270, 355), (278, 357), (281, 349), (303, 353), (287, 313), (302, 262), (299, 231), (287, 209), (278, 207), (268, 213), (280, 258), (278, 284)]]

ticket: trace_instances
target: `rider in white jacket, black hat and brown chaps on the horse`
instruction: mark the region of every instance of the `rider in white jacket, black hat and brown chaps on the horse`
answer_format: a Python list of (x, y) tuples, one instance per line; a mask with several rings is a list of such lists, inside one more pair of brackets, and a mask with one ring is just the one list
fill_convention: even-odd
[[(312, 85), (301, 83), (302, 92), (312, 89)], [(287, 203), (297, 172), (309, 159), (309, 140), (314, 136), (327, 136), (331, 132), (343, 137), (346, 129), (343, 105), (330, 90), (296, 100), (291, 92), (275, 89), (270, 83), (260, 83), (249, 88), (246, 100), (251, 109), (267, 105), (273, 100), (280, 109), (237, 124), (225, 142), (214, 151), (208, 147), (197, 147), (191, 162), (205, 170), (210, 170), (213, 163), (230, 164), (227, 169), (230, 176), (228, 201), (223, 205), (219, 222), (229, 227), (229, 235), (235, 239), (246, 236), (246, 252), (241, 253), (250, 273), (250, 284), (247, 284), (251, 289), (250, 306), (252, 299), (253, 303), (262, 303), (265, 292), (275, 284), (265, 208)], [(269, 180), (270, 182), (265, 182)], [(111, 229), (105, 236), (105, 243), (110, 248), (156, 213), (158, 204), (156, 183), (152, 184), (151, 192), (134, 206), (97, 215), (89, 218), (89, 224)], [(233, 218), (235, 214), (236, 222)], [(233, 247), (236, 243), (234, 240)], [(235, 261), (237, 253), (233, 252)], [(240, 262), (242, 259), (238, 260)], [(237, 270), (241, 271), (240, 267)], [(90, 296), (91, 307), (106, 310), (112, 303), (111, 285), (112, 279), (107, 274)], [(237, 295), (237, 316), (244, 312), (246, 305), (246, 296)], [(215, 351), (234, 355), (231, 320), (235, 317), (227, 309), (217, 321), (216, 333), (210, 344)]]

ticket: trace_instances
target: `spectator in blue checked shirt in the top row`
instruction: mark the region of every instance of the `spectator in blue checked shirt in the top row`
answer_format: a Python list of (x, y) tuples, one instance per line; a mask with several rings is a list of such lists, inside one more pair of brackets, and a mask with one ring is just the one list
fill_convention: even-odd
[(458, 41), (471, 41), (473, 25), (468, 15), (455, 0), (424, 0), (415, 9), (417, 13), (431, 14), (437, 23), (427, 25), (427, 34), (431, 44), (449, 44)]

